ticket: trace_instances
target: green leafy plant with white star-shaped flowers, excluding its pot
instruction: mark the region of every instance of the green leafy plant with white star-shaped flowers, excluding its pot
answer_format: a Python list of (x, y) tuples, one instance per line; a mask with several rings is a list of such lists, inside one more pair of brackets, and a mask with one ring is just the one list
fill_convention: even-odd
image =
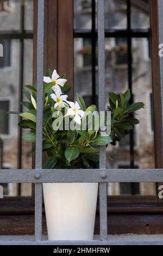
[[(129, 104), (130, 90), (117, 95), (109, 93), (109, 110), (111, 112), (111, 133), (105, 136), (95, 129), (95, 120), (92, 121), (90, 130), (87, 116), (97, 113), (97, 107), (91, 105), (86, 108), (84, 99), (77, 94), (78, 102), (68, 101), (66, 95), (72, 86), (65, 85), (67, 80), (65, 75), (61, 78), (57, 71), (48, 70), (47, 76), (43, 77), (45, 85), (43, 87), (43, 130), (42, 130), (42, 150), (46, 152), (47, 161), (43, 168), (90, 168), (93, 162), (99, 161), (99, 146), (115, 144), (117, 140), (124, 137), (129, 130), (133, 129), (139, 120), (133, 118), (133, 113), (144, 107), (142, 102)], [(37, 85), (25, 86), (32, 93), (23, 89), (28, 101), (21, 104), (27, 108), (20, 114), (23, 120), (18, 123), (23, 129), (30, 129), (23, 136), (26, 141), (35, 143), (36, 140), (36, 93)], [(66, 118), (69, 118), (74, 129), (59, 129), (65, 127)], [(83, 127), (85, 122), (85, 129)], [(33, 147), (33, 151), (35, 147)]]

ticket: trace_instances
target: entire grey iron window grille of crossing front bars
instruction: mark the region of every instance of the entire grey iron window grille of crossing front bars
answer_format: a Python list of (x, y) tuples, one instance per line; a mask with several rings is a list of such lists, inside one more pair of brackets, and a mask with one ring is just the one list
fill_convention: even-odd
[[(162, 19), (163, 2), (158, 0), (159, 42), (163, 38)], [(106, 169), (105, 147), (100, 148), (99, 169), (43, 169), (42, 170), (42, 109), (43, 109), (43, 19), (44, 0), (38, 1), (37, 28), (37, 124), (36, 124), (36, 165), (34, 169), (0, 170), (1, 182), (32, 182), (35, 184), (35, 240), (26, 236), (10, 236), (0, 240), (1, 245), (129, 245), (159, 244), (163, 241), (147, 240), (108, 240), (107, 234), (107, 182), (163, 182), (163, 169)], [(104, 0), (98, 0), (98, 79), (99, 111), (105, 109), (104, 83)], [(163, 60), (160, 58), (160, 75), (162, 86)], [(163, 92), (161, 89), (163, 101)], [(163, 107), (163, 102), (162, 102)], [(163, 109), (162, 109), (163, 111)], [(42, 183), (43, 182), (99, 182), (100, 240), (93, 241), (47, 241), (42, 240)]]

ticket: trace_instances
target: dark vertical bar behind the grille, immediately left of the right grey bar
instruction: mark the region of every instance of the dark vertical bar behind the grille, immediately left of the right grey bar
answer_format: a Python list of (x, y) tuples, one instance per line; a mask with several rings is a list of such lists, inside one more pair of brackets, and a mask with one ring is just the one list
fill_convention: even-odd
[(92, 104), (96, 104), (96, 2), (92, 0)]

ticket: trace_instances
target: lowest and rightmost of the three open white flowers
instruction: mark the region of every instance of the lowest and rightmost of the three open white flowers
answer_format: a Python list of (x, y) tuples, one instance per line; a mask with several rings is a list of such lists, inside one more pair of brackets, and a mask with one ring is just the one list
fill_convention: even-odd
[(67, 114), (66, 115), (74, 115), (73, 120), (77, 123), (77, 124), (81, 124), (81, 119), (84, 117), (85, 112), (80, 109), (80, 106), (78, 104), (78, 102), (76, 101), (76, 103), (71, 102), (71, 101), (66, 101), (68, 103), (68, 105), (70, 105), (71, 108), (68, 108)]

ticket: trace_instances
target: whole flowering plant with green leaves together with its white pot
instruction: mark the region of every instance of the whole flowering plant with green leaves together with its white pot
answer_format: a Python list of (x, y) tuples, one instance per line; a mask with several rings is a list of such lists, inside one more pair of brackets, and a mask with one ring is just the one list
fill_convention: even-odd
[[(115, 144), (117, 139), (124, 137), (135, 124), (139, 123), (139, 120), (130, 114), (142, 108), (144, 104), (137, 102), (130, 105), (129, 90), (120, 95), (109, 93), (111, 133), (102, 135), (96, 128), (96, 118), (91, 119), (91, 122), (88, 118), (90, 114), (96, 117), (97, 107), (91, 105), (86, 108), (79, 94), (77, 94), (78, 101), (68, 101), (66, 94), (72, 86), (65, 85), (67, 80), (64, 76), (59, 78), (56, 70), (53, 72), (49, 70), (43, 80), (45, 85), (42, 150), (47, 156), (43, 164), (45, 169), (87, 168), (89, 172), (89, 168), (98, 163), (100, 145)], [(23, 129), (30, 129), (23, 138), (34, 143), (37, 86), (28, 85), (26, 88), (32, 93), (23, 90), (28, 101), (21, 103), (27, 108), (27, 112), (20, 114), (23, 120), (18, 125)], [(65, 128), (66, 120), (70, 122), (68, 129)], [(43, 184), (48, 239), (92, 240), (97, 192), (98, 183)]]

